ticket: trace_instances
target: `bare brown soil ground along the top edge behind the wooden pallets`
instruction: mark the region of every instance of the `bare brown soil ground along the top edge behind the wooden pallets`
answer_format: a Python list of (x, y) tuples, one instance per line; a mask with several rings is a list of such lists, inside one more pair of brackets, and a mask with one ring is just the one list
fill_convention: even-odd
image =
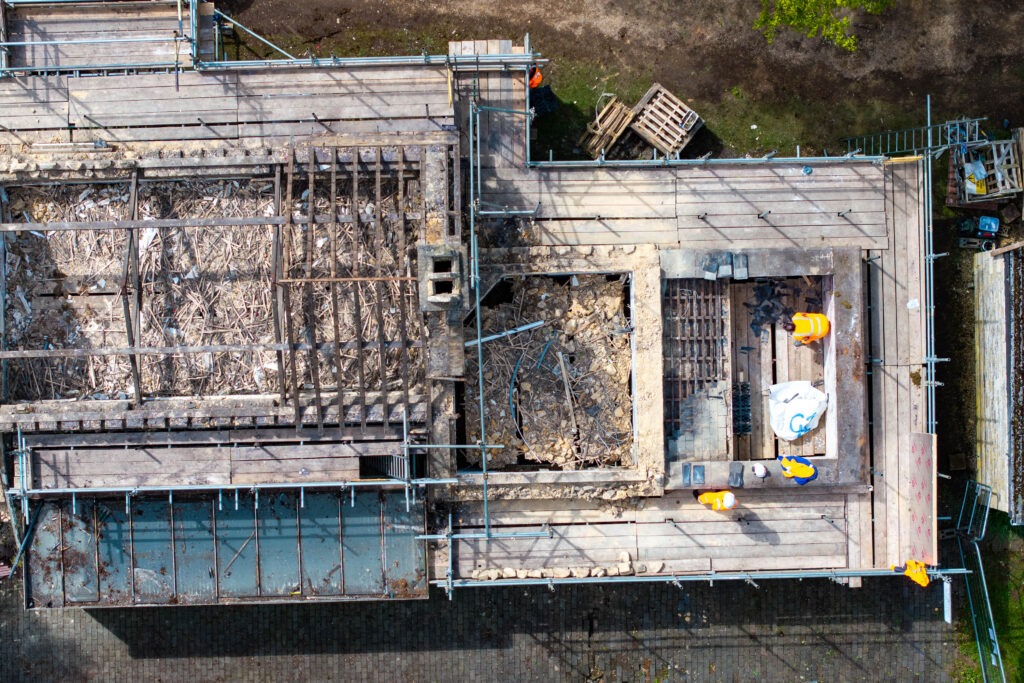
[[(820, 39), (781, 33), (769, 45), (753, 25), (753, 0), (226, 0), (250, 28), (312, 49), (345, 53), (443, 50), (446, 40), (519, 38), (553, 61), (587, 63), (625, 78), (659, 81), (712, 105), (743, 93), (786, 105), (807, 145), (937, 118), (987, 116), (1024, 124), (1024, 11), (1018, 0), (897, 0), (856, 14), (860, 46), (847, 53)], [(514, 8), (513, 8), (514, 7)], [(646, 86), (644, 86), (646, 87)], [(810, 116), (799, 121), (802, 104)], [(821, 116), (821, 113), (825, 116)], [(903, 116), (900, 114), (902, 113)], [(877, 114), (877, 116), (876, 116)], [(714, 131), (715, 121), (709, 121)], [(864, 129), (851, 130), (856, 124)], [(743, 152), (730, 150), (730, 152)]]

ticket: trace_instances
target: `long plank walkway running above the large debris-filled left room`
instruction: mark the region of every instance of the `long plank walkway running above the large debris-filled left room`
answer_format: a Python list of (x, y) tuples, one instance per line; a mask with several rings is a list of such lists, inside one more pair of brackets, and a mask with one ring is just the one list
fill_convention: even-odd
[[(314, 117), (315, 115), (315, 117)], [(321, 122), (317, 122), (316, 119)], [(291, 137), (434, 131), (454, 123), (437, 67), (94, 78), (4, 79), (0, 125), (114, 141)], [(242, 124), (241, 126), (239, 124)], [(26, 133), (27, 134), (27, 133)], [(11, 142), (45, 133), (4, 131)], [(42, 136), (42, 137), (40, 137)]]

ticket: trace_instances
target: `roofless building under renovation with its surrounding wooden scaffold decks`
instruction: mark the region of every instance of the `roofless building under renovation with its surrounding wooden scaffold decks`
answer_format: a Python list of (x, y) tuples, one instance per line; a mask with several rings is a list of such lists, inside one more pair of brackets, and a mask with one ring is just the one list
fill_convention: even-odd
[[(27, 606), (937, 563), (923, 161), (551, 161), (528, 40), (227, 60), (201, 0), (0, 31)], [(783, 440), (790, 381), (827, 409)]]

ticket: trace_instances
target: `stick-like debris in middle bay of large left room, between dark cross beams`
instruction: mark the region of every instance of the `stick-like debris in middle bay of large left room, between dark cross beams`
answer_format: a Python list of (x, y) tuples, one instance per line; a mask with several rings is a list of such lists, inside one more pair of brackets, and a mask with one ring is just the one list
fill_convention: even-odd
[[(146, 183), (139, 190), (143, 218), (272, 215), (266, 181)], [(138, 240), (141, 346), (273, 343), (270, 227), (143, 228)], [(273, 351), (146, 355), (141, 366), (146, 391), (160, 395), (275, 387)]]

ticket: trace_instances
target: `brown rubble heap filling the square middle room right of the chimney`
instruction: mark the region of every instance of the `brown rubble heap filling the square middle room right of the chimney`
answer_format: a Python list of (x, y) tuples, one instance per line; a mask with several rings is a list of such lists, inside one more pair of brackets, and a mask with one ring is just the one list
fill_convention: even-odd
[[(486, 441), (493, 468), (524, 461), (563, 470), (628, 466), (633, 445), (632, 330), (624, 282), (529, 276), (512, 301), (484, 305), (483, 336), (543, 321), (483, 346)], [(473, 336), (473, 333), (470, 333)], [(476, 350), (469, 347), (466, 430), (479, 439)], [(479, 455), (468, 454), (478, 461)]]

